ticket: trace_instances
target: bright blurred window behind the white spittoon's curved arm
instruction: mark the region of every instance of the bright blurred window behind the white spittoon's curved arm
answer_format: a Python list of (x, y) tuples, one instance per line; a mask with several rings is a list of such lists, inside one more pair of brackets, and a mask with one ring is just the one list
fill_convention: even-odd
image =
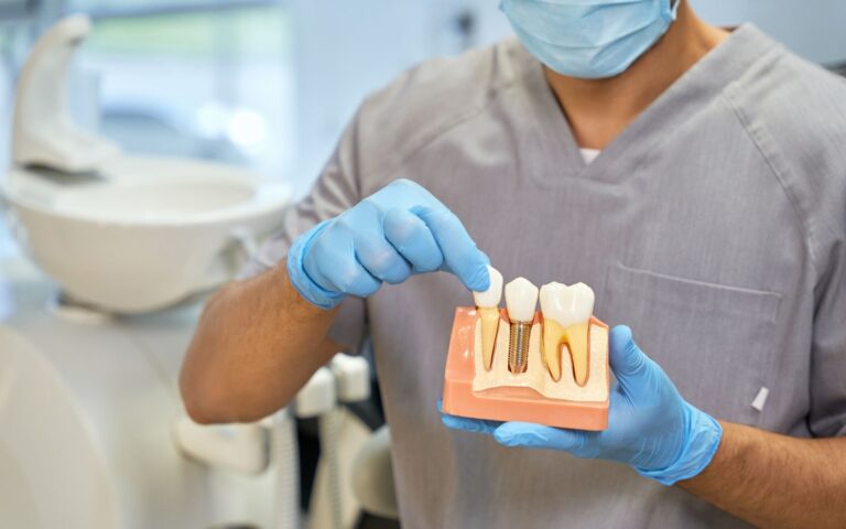
[(100, 133), (130, 152), (288, 169), (293, 73), (279, 2), (70, 3), (94, 19), (80, 65), (99, 79)]

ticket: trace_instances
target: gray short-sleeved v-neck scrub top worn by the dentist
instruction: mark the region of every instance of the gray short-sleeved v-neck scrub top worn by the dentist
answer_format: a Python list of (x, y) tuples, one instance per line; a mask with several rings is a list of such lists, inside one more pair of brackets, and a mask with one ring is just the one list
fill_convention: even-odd
[[(694, 406), (846, 434), (846, 86), (753, 26), (589, 165), (516, 40), (422, 64), (364, 102), (245, 274), (398, 177), (455, 212), (507, 281), (590, 284), (597, 316), (630, 325)], [(453, 311), (470, 304), (454, 277), (420, 276), (345, 301), (333, 328), (372, 336), (403, 527), (745, 526), (625, 465), (444, 428)]]

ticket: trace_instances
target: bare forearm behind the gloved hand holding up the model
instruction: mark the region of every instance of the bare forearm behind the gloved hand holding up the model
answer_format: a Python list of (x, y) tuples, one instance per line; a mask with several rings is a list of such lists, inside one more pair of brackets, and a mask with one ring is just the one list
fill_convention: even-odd
[(682, 488), (759, 527), (846, 527), (846, 439), (722, 425), (711, 465)]

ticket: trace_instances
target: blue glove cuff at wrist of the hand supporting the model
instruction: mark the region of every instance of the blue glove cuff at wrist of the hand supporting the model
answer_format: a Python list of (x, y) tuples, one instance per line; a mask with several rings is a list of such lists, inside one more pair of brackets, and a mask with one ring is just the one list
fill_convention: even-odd
[(675, 463), (663, 469), (636, 468), (641, 476), (651, 477), (662, 485), (671, 486), (697, 476), (711, 464), (723, 439), (723, 427), (704, 411), (687, 403), (685, 406), (687, 407), (687, 413), (685, 413), (687, 439), (682, 454)]

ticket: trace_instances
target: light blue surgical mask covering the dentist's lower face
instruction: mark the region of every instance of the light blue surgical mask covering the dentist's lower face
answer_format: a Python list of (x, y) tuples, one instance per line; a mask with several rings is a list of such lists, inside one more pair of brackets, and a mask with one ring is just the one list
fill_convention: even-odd
[(501, 0), (517, 36), (543, 64), (570, 77), (619, 75), (658, 42), (681, 0)]

